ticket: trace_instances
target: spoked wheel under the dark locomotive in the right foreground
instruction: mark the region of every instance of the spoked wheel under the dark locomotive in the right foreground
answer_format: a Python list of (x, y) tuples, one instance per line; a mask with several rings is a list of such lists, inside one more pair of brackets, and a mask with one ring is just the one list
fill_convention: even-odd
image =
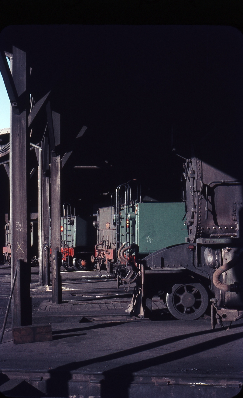
[(166, 305), (177, 319), (198, 319), (207, 309), (208, 293), (200, 283), (174, 285), (166, 295)]

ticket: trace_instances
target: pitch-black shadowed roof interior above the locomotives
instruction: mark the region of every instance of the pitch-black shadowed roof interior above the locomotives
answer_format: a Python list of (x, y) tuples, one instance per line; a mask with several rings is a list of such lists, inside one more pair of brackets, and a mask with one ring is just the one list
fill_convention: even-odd
[[(51, 90), (60, 153), (74, 151), (62, 170), (62, 201), (79, 212), (90, 215), (107, 201), (103, 193), (133, 178), (143, 195), (179, 201), (183, 160), (174, 147), (241, 178), (243, 36), (236, 28), (17, 25), (2, 31), (0, 44), (26, 51), (35, 101)], [(45, 124), (43, 113), (33, 143)]]

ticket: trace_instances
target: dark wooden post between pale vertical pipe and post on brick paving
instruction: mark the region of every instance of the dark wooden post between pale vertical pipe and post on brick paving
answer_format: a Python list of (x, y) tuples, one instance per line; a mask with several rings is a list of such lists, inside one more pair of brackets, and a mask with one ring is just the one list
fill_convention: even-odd
[(47, 137), (41, 142), (42, 155), (42, 238), (43, 238), (43, 284), (50, 286), (49, 248), (49, 145)]

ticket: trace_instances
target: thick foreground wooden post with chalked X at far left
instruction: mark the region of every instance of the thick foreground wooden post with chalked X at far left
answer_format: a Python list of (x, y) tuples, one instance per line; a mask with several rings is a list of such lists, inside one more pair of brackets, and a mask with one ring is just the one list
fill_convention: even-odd
[[(29, 98), (26, 90), (28, 77), (26, 54), (13, 47), (12, 74), (19, 97), (19, 114), (12, 113), (10, 130), (10, 220), (11, 220), (11, 261), (12, 276), (17, 264), (19, 272), (12, 298), (12, 326), (32, 324), (32, 310), (29, 284), (31, 282), (30, 211), (27, 204), (29, 185), (29, 134), (27, 116)], [(15, 104), (14, 104), (15, 105)], [(13, 105), (13, 106), (14, 106)]]

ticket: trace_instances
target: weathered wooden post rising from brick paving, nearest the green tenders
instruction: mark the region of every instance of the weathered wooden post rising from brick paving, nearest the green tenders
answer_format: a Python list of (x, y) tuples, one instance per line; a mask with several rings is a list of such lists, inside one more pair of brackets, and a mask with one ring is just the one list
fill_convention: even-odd
[(62, 281), (58, 256), (61, 251), (61, 199), (60, 199), (60, 155), (51, 156), (51, 280), (52, 302), (62, 302)]

